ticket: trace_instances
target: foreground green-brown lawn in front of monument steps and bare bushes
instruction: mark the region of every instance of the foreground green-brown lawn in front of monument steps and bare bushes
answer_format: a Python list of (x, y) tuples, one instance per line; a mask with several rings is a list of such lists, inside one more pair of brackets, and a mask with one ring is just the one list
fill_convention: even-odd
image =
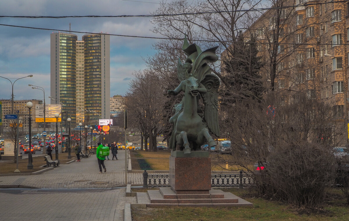
[(132, 209), (132, 220), (134, 221), (332, 221), (349, 220), (349, 207), (343, 194), (339, 190), (329, 190), (329, 197), (323, 209), (312, 211), (300, 210), (288, 204), (275, 201), (267, 201), (261, 198), (251, 198), (246, 190), (237, 188), (222, 189), (232, 192), (239, 197), (253, 203), (253, 208), (146, 208)]

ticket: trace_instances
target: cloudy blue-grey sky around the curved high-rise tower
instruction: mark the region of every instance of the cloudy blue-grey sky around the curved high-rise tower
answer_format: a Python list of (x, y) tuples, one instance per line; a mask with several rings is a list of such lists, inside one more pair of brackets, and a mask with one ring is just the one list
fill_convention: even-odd
[[(146, 2), (140, 2), (146, 1)], [(0, 15), (6, 16), (71, 16), (71, 15), (144, 15), (154, 12), (160, 0), (2, 0)], [(154, 3), (150, 3), (154, 2)], [(109, 33), (120, 35), (156, 35), (149, 18), (9, 18), (1, 17), (0, 24)], [(15, 100), (43, 99), (43, 92), (28, 84), (44, 87), (46, 103), (50, 96), (50, 34), (53, 30), (37, 30), (0, 25), (0, 76), (17, 78)], [(55, 31), (56, 32), (56, 31)], [(78, 35), (81, 40), (82, 35)], [(157, 36), (161, 37), (161, 36)], [(153, 55), (151, 44), (156, 40), (110, 36), (110, 95), (124, 95), (132, 72), (145, 67), (142, 57)], [(10, 99), (12, 86), (0, 78), (0, 99)]]

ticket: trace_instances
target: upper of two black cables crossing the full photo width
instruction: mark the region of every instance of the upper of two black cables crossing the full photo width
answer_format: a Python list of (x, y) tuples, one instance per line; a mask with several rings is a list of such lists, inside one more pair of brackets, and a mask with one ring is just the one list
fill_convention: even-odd
[[(211, 11), (211, 12), (194, 12), (194, 13), (177, 13), (177, 14), (157, 14), (157, 15), (67, 15), (67, 16), (10, 16), (10, 15), (0, 15), (0, 17), (14, 17), (14, 18), (31, 18), (31, 19), (41, 19), (41, 18), (51, 18), (51, 19), (62, 19), (62, 18), (80, 18), (80, 17), (173, 17), (173, 16), (180, 16), (180, 15), (201, 15), (201, 14), (221, 14), (221, 13), (235, 13), (235, 12), (259, 12), (263, 10), (275, 10), (275, 9), (285, 9), (285, 8), (297, 8), (302, 6), (312, 6), (312, 5), (325, 5), (330, 3), (342, 3), (342, 2), (348, 2), (349, 0), (342, 0), (342, 1), (331, 1), (331, 2), (323, 2), (323, 3), (302, 3), (299, 5), (292, 5), (292, 6), (280, 6), (280, 7), (271, 7), (271, 8), (250, 8), (250, 9), (239, 9), (239, 10), (230, 10), (230, 11)], [(152, 2), (149, 2), (152, 3)], [(154, 2), (153, 2), (154, 3)]]

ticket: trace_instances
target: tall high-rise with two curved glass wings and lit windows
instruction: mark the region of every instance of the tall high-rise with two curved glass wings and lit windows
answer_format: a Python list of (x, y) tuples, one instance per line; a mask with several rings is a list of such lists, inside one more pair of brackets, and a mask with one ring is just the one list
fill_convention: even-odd
[(62, 103), (72, 124), (110, 114), (109, 35), (51, 34), (51, 104)]

